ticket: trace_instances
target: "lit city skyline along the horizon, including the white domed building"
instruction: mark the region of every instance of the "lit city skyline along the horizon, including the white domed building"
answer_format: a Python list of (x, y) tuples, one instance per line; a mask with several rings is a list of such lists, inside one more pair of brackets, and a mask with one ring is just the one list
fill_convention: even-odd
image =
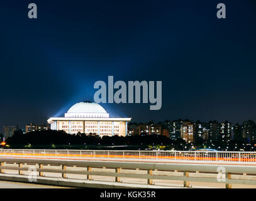
[[(231, 149), (242, 151), (246, 148), (245, 143), (255, 142), (253, 144), (256, 146), (256, 124), (252, 120), (243, 121), (242, 124), (232, 124), (229, 121), (203, 122), (189, 119), (131, 122), (131, 119), (132, 117), (112, 117), (100, 104), (85, 100), (70, 107), (64, 117), (50, 117), (47, 120), (48, 124), (31, 122), (26, 124), (26, 129), (18, 126), (4, 126), (3, 136), (7, 143), (10, 141), (18, 143), (18, 138), (62, 134), (73, 139), (76, 138), (77, 143), (78, 138), (82, 139), (86, 136), (88, 138), (94, 136), (95, 139), (99, 138), (104, 141), (108, 137), (129, 138), (129, 136), (143, 137), (153, 134), (161, 138), (165, 137), (162, 143), (169, 143), (169, 146), (170, 143), (173, 145), (172, 142), (175, 142), (176, 145), (186, 143), (184, 148), (189, 149), (205, 148), (206, 144), (208, 148), (211, 148), (217, 144), (216, 148), (227, 151), (229, 144), (235, 144)], [(237, 144), (240, 145), (237, 146)], [(253, 149), (252, 147), (250, 149)]]

